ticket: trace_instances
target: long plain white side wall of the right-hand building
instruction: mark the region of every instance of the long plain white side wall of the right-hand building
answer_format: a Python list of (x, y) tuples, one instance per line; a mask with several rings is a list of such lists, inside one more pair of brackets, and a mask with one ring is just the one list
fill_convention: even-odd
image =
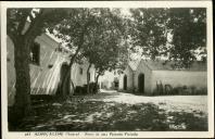
[(178, 86), (195, 86), (197, 88), (207, 87), (206, 72), (191, 71), (153, 71), (152, 90), (156, 88), (156, 81), (163, 85)]

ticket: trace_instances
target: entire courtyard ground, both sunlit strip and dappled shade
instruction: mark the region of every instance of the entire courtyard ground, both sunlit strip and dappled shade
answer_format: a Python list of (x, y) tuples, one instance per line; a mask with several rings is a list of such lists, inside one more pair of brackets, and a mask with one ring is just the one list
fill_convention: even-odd
[(207, 130), (207, 96), (144, 97), (105, 91), (66, 102), (42, 101), (10, 130), (163, 131)]

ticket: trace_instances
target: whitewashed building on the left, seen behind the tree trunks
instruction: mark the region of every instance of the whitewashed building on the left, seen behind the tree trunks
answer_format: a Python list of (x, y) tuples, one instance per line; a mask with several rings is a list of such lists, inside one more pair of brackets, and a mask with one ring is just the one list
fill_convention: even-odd
[[(62, 63), (68, 62), (69, 51), (59, 48), (60, 43), (47, 34), (35, 39), (30, 49), (30, 94), (55, 94), (60, 81)], [(71, 78), (74, 87), (87, 84), (88, 62), (74, 63)], [(7, 37), (8, 104), (15, 97), (14, 45)], [(90, 68), (90, 81), (94, 81), (94, 67)]]

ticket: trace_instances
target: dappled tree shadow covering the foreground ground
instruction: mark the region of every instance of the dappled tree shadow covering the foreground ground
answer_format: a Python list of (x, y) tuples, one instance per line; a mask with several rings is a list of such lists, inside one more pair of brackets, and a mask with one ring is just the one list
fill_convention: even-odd
[(166, 112), (153, 103), (125, 104), (76, 97), (64, 103), (40, 101), (33, 105), (33, 110), (34, 115), (23, 119), (18, 126), (12, 127), (9, 123), (9, 130), (207, 130), (207, 118), (201, 113)]

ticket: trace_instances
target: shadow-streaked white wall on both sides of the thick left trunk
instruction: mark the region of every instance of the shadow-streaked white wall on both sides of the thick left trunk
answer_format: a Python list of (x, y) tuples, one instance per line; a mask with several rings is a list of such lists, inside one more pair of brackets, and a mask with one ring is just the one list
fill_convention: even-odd
[[(58, 42), (41, 35), (35, 40), (40, 45), (40, 65), (30, 64), (30, 93), (31, 94), (53, 94), (55, 93), (60, 67), (66, 59), (54, 51)], [(7, 37), (7, 74), (8, 74), (8, 103), (13, 105), (15, 96), (15, 68), (14, 68), (14, 45), (10, 37)], [(52, 65), (49, 68), (49, 65)]]

